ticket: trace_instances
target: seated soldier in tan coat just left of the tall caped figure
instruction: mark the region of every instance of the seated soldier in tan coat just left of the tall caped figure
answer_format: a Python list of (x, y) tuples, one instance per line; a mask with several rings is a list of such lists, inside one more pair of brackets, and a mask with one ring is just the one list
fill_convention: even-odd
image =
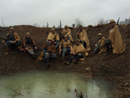
[(105, 46), (105, 37), (102, 36), (102, 33), (98, 34), (99, 37), (99, 41), (98, 43), (95, 45), (95, 49), (94, 52), (91, 56), (95, 55), (96, 53), (102, 53), (106, 51), (106, 46)]

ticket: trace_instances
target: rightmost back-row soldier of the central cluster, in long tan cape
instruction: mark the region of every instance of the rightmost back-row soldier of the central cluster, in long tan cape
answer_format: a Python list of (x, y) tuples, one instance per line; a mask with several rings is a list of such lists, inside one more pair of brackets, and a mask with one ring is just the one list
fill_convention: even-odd
[(87, 49), (87, 51), (90, 50), (88, 35), (87, 32), (83, 29), (82, 25), (79, 26), (76, 38), (80, 40), (80, 43), (83, 44), (83, 46)]

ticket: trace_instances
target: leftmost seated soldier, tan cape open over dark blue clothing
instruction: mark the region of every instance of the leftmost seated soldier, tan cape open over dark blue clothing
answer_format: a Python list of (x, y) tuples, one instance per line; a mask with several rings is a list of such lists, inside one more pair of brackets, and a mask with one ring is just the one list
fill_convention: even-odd
[(5, 46), (6, 46), (6, 51), (9, 51), (9, 49), (18, 49), (19, 46), (21, 45), (20, 37), (19, 35), (14, 32), (14, 28), (10, 28), (10, 32), (7, 33), (5, 40), (4, 40)]

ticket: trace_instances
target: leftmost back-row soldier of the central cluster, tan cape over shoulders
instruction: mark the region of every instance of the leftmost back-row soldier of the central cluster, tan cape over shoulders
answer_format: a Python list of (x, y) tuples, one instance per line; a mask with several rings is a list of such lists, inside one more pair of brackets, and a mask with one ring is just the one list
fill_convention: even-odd
[(48, 39), (52, 39), (52, 43), (55, 45), (56, 49), (59, 47), (59, 35), (55, 31), (55, 28), (51, 29), (51, 32), (49, 33), (49, 35), (47, 37), (47, 41), (48, 41)]

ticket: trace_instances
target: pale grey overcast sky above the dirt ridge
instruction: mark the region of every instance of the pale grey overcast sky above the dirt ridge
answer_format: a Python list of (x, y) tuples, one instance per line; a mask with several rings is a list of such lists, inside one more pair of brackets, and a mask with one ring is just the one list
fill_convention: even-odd
[(84, 26), (100, 19), (130, 18), (130, 0), (0, 0), (0, 25), (72, 26), (79, 18)]

